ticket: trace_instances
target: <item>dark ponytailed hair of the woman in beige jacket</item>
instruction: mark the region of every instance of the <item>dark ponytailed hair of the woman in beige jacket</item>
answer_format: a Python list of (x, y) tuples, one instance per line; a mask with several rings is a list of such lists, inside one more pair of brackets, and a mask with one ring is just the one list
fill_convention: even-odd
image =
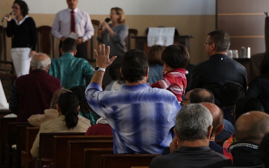
[(78, 122), (78, 98), (72, 92), (62, 93), (59, 97), (58, 106), (61, 113), (65, 115), (65, 122), (68, 129), (74, 128)]

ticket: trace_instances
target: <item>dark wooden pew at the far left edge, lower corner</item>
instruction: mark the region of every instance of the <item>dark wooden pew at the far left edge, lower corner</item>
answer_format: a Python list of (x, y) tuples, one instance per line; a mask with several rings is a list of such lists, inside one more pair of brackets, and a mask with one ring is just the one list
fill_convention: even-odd
[(15, 122), (16, 117), (0, 118), (0, 166), (4, 164), (5, 144), (9, 142), (9, 122)]

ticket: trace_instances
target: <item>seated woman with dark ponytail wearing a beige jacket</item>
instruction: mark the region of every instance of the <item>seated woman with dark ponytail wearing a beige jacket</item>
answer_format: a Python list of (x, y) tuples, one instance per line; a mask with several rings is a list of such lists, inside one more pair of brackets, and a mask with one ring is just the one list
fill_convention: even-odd
[(57, 105), (58, 118), (41, 124), (31, 149), (33, 157), (39, 157), (39, 134), (48, 132), (86, 132), (91, 126), (88, 119), (78, 115), (79, 102), (72, 92), (62, 93)]

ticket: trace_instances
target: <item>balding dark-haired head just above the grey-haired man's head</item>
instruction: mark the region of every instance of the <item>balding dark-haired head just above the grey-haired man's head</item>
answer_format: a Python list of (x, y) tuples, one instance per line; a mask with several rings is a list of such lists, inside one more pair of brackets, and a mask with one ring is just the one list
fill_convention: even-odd
[(189, 98), (190, 103), (215, 103), (214, 95), (210, 90), (197, 88), (193, 89), (192, 93), (190, 94)]

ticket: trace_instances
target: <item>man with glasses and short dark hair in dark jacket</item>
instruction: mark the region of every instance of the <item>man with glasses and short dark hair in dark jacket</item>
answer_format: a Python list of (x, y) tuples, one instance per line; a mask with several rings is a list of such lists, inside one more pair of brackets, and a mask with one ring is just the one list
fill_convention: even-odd
[(216, 30), (208, 33), (206, 53), (209, 60), (195, 65), (193, 69), (191, 89), (205, 88), (215, 97), (215, 104), (222, 107), (219, 101), (219, 90), (226, 82), (237, 82), (246, 91), (246, 69), (227, 55), (230, 46), (228, 32)]

